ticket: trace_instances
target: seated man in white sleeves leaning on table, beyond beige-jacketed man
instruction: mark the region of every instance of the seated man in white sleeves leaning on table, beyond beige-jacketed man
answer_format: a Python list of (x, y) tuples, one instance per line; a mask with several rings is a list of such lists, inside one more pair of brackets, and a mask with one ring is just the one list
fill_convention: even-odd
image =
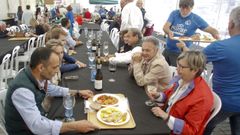
[(125, 34), (125, 40), (129, 46), (129, 51), (124, 53), (115, 53), (115, 57), (110, 58), (110, 61), (115, 61), (120, 64), (129, 64), (132, 59), (132, 54), (142, 51), (142, 33), (137, 28), (129, 28)]

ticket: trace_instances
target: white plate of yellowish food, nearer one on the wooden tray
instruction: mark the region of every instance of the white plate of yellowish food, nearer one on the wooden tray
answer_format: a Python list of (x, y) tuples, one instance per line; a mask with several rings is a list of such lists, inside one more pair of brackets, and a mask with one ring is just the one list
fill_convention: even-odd
[(128, 111), (123, 111), (117, 107), (102, 108), (97, 112), (97, 119), (103, 124), (110, 126), (120, 126), (129, 122)]

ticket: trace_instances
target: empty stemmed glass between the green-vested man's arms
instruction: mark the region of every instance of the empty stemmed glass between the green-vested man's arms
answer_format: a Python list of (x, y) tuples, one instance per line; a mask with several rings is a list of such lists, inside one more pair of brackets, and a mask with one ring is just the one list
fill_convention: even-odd
[(65, 108), (65, 121), (75, 121), (73, 118), (73, 108), (75, 106), (75, 96), (67, 94), (63, 97), (63, 106)]

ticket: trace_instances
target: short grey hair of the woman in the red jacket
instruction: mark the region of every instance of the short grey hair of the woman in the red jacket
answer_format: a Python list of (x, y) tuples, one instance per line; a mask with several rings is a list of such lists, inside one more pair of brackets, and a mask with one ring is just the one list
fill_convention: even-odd
[(206, 66), (206, 57), (205, 55), (200, 52), (200, 51), (186, 51), (181, 53), (177, 61), (181, 59), (186, 59), (187, 64), (190, 68), (190, 70), (198, 70), (197, 74), (195, 77), (198, 77), (202, 74), (203, 70), (205, 69)]

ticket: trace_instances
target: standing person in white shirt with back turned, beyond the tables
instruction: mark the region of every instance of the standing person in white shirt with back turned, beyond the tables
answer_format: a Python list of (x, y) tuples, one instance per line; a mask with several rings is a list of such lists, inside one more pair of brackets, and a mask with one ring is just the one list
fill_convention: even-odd
[(121, 0), (121, 27), (120, 30), (128, 28), (137, 28), (142, 31), (143, 16), (141, 10), (136, 6), (133, 0)]

